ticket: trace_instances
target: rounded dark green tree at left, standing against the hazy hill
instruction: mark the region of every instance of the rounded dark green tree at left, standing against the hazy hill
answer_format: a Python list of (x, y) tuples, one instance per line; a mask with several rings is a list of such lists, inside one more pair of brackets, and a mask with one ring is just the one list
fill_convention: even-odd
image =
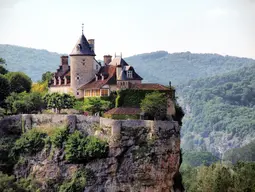
[(32, 80), (23, 72), (9, 72), (5, 75), (10, 83), (10, 92), (30, 92)]

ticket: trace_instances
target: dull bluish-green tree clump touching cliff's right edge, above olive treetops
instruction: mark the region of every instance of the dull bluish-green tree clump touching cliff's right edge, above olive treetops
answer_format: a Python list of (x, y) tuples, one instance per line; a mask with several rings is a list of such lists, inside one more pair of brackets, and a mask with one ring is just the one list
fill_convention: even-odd
[(190, 165), (192, 167), (197, 167), (200, 165), (209, 166), (212, 163), (219, 161), (219, 158), (213, 156), (210, 152), (184, 152), (183, 164)]

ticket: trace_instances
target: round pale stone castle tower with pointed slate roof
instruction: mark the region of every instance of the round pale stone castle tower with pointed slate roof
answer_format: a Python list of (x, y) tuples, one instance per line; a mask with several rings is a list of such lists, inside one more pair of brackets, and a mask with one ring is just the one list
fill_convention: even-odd
[(70, 54), (71, 89), (76, 98), (84, 97), (84, 91), (79, 88), (95, 77), (94, 58), (94, 50), (84, 36), (82, 27), (82, 35)]

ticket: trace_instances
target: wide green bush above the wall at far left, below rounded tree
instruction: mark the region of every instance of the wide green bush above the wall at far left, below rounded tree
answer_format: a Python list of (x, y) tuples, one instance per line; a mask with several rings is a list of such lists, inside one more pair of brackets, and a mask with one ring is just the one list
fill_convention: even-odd
[(11, 113), (34, 113), (44, 108), (44, 102), (40, 93), (11, 93), (5, 100), (7, 109)]

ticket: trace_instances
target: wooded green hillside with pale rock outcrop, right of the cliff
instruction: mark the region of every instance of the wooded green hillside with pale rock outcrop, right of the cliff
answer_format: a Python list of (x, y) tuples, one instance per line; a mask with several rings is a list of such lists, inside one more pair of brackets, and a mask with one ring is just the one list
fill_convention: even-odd
[(255, 137), (255, 65), (179, 86), (186, 150), (221, 156)]

